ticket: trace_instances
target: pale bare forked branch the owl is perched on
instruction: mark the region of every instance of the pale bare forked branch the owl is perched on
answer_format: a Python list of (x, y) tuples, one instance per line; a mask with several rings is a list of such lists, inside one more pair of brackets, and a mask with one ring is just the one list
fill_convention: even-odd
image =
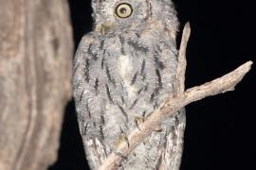
[[(183, 38), (179, 51), (179, 61), (177, 69), (177, 83), (176, 95), (169, 96), (165, 102), (155, 110), (146, 120), (139, 125), (139, 129), (133, 129), (129, 135), (129, 147), (126, 143), (121, 143), (117, 147), (116, 153), (111, 153), (108, 158), (101, 164), (100, 170), (117, 169), (123, 157), (127, 157), (132, 152), (137, 144), (149, 136), (164, 119), (172, 116), (177, 110), (185, 107), (186, 105), (203, 99), (210, 95), (218, 93), (226, 93), (234, 90), (234, 87), (239, 83), (242, 78), (250, 70), (252, 61), (248, 61), (233, 72), (226, 76), (219, 77), (201, 86), (193, 87), (184, 92), (185, 70), (186, 70), (186, 46), (190, 36), (190, 26), (187, 24), (184, 28)], [(119, 153), (119, 154), (117, 154)], [(120, 157), (120, 155), (122, 157)]]

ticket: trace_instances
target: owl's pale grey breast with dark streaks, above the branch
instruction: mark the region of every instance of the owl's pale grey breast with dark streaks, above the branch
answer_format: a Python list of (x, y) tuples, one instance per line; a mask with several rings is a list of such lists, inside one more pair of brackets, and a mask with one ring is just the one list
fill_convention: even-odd
[(92, 134), (116, 139), (120, 129), (134, 127), (135, 117), (147, 116), (173, 92), (172, 45), (157, 40), (148, 46), (129, 36), (112, 35), (82, 48), (78, 55), (85, 53), (86, 58), (78, 65), (82, 74), (77, 78), (85, 84), (78, 84), (82, 91), (77, 100)]

